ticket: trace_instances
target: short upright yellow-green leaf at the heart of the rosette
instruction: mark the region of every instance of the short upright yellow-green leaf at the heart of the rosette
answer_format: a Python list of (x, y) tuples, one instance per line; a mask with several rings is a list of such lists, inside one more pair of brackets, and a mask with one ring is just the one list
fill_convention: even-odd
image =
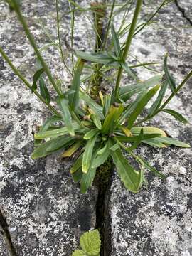
[(102, 133), (103, 134), (109, 134), (110, 132), (113, 132), (114, 129), (117, 127), (119, 117), (121, 116), (123, 112), (123, 105), (120, 105), (119, 107), (114, 107), (113, 105), (110, 107), (110, 110), (105, 117), (105, 121), (102, 125)]

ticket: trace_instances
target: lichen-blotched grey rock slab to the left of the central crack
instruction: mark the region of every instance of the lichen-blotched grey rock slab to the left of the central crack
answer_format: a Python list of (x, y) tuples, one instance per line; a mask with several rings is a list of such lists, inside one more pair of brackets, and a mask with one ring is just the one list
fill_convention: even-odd
[[(23, 1), (22, 8), (39, 46), (45, 46), (49, 39), (42, 32), (36, 11), (55, 40), (55, 2)], [(61, 9), (67, 9), (64, 2)], [(2, 3), (0, 12), (3, 14), (0, 18), (1, 46), (31, 81), (36, 70), (33, 50), (14, 12), (9, 14)], [(83, 27), (82, 17), (78, 19)], [(63, 20), (64, 36), (70, 21), (65, 17)], [(70, 76), (63, 71), (57, 50), (50, 48), (46, 58), (55, 77), (62, 78), (64, 86), (68, 85)], [(70, 256), (79, 245), (80, 235), (95, 226), (97, 190), (92, 188), (87, 195), (81, 195), (78, 184), (69, 174), (72, 162), (58, 161), (58, 154), (31, 160), (33, 132), (50, 112), (26, 90), (1, 57), (0, 95), (0, 206), (9, 223), (14, 247), (18, 255)], [(7, 255), (1, 238), (0, 255)]]

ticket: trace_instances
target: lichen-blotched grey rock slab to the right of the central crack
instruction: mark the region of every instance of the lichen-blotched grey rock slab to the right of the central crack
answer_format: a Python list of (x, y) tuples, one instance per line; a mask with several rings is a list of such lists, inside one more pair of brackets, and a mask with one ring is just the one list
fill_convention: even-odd
[[(155, 8), (161, 1), (150, 1)], [(181, 1), (183, 5), (192, 1)], [(190, 4), (189, 4), (190, 3)], [(151, 11), (147, 4), (144, 14)], [(144, 17), (144, 16), (143, 16)], [(159, 27), (190, 25), (175, 3), (160, 11), (156, 20)], [(134, 39), (132, 54), (140, 61), (162, 60), (169, 52), (171, 73), (179, 82), (192, 68), (191, 29), (146, 29)], [(138, 73), (146, 79), (148, 72)], [(192, 121), (191, 80), (171, 101), (170, 107)], [(191, 125), (181, 125), (167, 114), (159, 114), (151, 122), (164, 129), (171, 137), (192, 143)], [(189, 256), (192, 255), (192, 151), (191, 149), (151, 149), (140, 146), (137, 153), (156, 169), (166, 174), (166, 181), (147, 174), (148, 189), (138, 194), (126, 191), (116, 172), (112, 177), (109, 215), (112, 234), (112, 256)]]

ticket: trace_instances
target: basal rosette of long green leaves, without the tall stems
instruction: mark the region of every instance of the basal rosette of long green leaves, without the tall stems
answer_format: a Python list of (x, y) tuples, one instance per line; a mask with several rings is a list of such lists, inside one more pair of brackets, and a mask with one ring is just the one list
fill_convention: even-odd
[[(134, 154), (134, 149), (137, 149), (139, 144), (157, 147), (189, 146), (167, 137), (166, 133), (157, 127), (136, 125), (135, 122), (144, 107), (158, 93), (145, 119), (164, 111), (181, 122), (187, 121), (178, 112), (161, 108), (169, 85), (169, 80), (161, 75), (120, 88), (118, 102), (115, 103), (112, 103), (113, 94), (102, 95), (100, 92), (98, 104), (84, 90), (80, 90), (80, 75), (84, 63), (85, 60), (78, 61), (70, 90), (65, 97), (58, 97), (60, 117), (50, 117), (34, 135), (38, 144), (32, 158), (38, 159), (58, 150), (62, 151), (61, 158), (74, 156), (75, 161), (70, 173), (75, 182), (80, 182), (81, 193), (86, 193), (92, 185), (96, 169), (111, 158), (124, 186), (137, 193), (145, 180), (144, 169), (164, 178), (164, 175), (146, 160)], [(137, 97), (132, 101), (134, 95)], [(63, 122), (62, 127), (54, 125), (58, 121)], [(139, 163), (140, 169), (134, 169), (124, 157), (124, 151)]]

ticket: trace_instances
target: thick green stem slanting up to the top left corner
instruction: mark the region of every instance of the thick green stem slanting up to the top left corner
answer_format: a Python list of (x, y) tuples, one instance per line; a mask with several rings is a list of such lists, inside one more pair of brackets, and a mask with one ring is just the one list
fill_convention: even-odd
[[(15, 1), (15, 0), (13, 0)], [(38, 57), (38, 60), (41, 62), (42, 68), (44, 68), (46, 74), (48, 75), (48, 79), (50, 80), (50, 82), (52, 83), (53, 87), (55, 88), (55, 91), (58, 93), (58, 95), (62, 95), (62, 93), (60, 92), (60, 90), (58, 90), (57, 85), (55, 84), (55, 81), (53, 79), (53, 76), (50, 73), (50, 70), (48, 68), (48, 66), (46, 65), (46, 62), (43, 60), (43, 57), (41, 56), (41, 53), (38, 50), (38, 46), (36, 45), (36, 42), (31, 34), (31, 32), (28, 29), (28, 25), (25, 21), (25, 18), (23, 18), (23, 15), (21, 14), (21, 11), (19, 9), (19, 7), (15, 8), (16, 14), (18, 16), (18, 20), (21, 22), (23, 29), (26, 33), (26, 36), (28, 37), (28, 41), (31, 43), (31, 46), (33, 46), (33, 49)]]

